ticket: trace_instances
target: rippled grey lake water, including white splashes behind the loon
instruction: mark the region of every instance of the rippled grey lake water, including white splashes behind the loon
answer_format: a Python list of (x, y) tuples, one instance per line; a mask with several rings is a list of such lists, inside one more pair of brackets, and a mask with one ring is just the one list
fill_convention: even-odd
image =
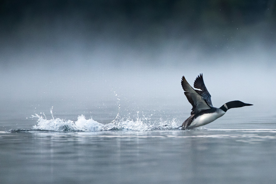
[(0, 116), (0, 183), (276, 181), (273, 111), (260, 112), (255, 104), (231, 109), (209, 125), (181, 131), (177, 127), (190, 112), (183, 112), (185, 106), (121, 103), (117, 116), (117, 105), (100, 103), (91, 110), (57, 105), (51, 114), (48, 105), (6, 103)]

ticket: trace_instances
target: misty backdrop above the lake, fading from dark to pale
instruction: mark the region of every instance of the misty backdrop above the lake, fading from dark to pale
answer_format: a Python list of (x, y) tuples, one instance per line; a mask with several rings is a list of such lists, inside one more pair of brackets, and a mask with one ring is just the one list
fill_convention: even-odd
[[(275, 100), (275, 1), (3, 1), (0, 100)], [(188, 104), (189, 105), (189, 104)]]

